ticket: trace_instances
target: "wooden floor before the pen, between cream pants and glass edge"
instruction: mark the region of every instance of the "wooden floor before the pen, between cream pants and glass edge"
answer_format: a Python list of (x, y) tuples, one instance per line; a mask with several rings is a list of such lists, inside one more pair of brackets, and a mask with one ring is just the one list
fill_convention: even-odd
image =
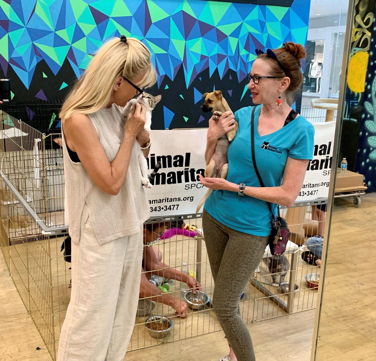
[[(315, 311), (311, 310), (248, 325), (255, 345), (256, 358), (264, 361), (308, 361), (311, 355), (314, 316)], [(127, 353), (125, 360), (218, 361), (227, 353), (224, 334), (218, 331), (132, 351)]]

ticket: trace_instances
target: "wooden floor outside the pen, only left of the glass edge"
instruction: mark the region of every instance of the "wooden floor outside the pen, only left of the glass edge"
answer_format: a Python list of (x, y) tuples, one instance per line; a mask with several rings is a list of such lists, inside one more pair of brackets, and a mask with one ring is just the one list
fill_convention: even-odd
[[(0, 360), (51, 361), (0, 252)], [(265, 361), (308, 361), (315, 311), (249, 324), (256, 355)], [(283, 330), (284, 337), (280, 337)], [(276, 347), (271, 340), (278, 340)], [(297, 346), (299, 344), (299, 346)], [(281, 347), (282, 345), (282, 347)], [(36, 350), (39, 347), (40, 350)], [(217, 361), (227, 353), (222, 331), (127, 353), (127, 361)]]

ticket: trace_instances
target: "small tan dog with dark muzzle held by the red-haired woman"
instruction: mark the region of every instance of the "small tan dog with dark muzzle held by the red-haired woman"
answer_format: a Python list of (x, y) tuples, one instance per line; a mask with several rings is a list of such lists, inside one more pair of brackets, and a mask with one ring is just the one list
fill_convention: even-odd
[[(226, 99), (222, 96), (220, 90), (213, 91), (212, 93), (205, 93), (205, 103), (201, 106), (203, 112), (212, 112), (213, 120), (218, 120), (222, 113), (231, 111)], [(227, 150), (229, 149), (230, 141), (235, 138), (238, 130), (238, 123), (235, 121), (235, 128), (227, 132), (223, 137), (219, 138), (215, 146), (214, 154), (210, 159), (209, 164), (205, 168), (205, 177), (218, 177), (226, 179), (229, 170), (229, 163), (227, 159)], [(196, 209), (196, 214), (199, 212), (202, 205), (212, 193), (212, 189), (208, 189), (200, 201)]]

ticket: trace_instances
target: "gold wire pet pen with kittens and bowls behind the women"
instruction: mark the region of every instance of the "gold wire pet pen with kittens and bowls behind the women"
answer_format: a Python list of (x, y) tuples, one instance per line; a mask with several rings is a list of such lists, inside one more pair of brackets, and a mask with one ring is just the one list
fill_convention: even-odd
[[(54, 360), (71, 287), (74, 287), (70, 283), (69, 252), (67, 248), (62, 249), (67, 236), (64, 170), (61, 147), (54, 141), (60, 137), (60, 133), (45, 135), (0, 112), (0, 244), (9, 274)], [(319, 274), (320, 269), (300, 258), (305, 247), (300, 246), (304, 241), (302, 229), (309, 225), (304, 219), (309, 217), (305, 206), (284, 210), (290, 212), (291, 241), (295, 243), (290, 241), (285, 252), (289, 267), (274, 272), (277, 279), (285, 276), (285, 281), (297, 285), (299, 290), (282, 290), (278, 285), (273, 286), (273, 275), (266, 264), (270, 253), (265, 250), (264, 261), (255, 270), (240, 300), (244, 322), (253, 323), (315, 307), (316, 294), (306, 284), (305, 276)], [(212, 310), (214, 282), (201, 218), (176, 215), (150, 219), (147, 223), (151, 224), (153, 237), (144, 243), (143, 277), (151, 288), (141, 288), (138, 315), (128, 350), (220, 330)], [(187, 229), (181, 230), (184, 224), (180, 223), (186, 223)], [(169, 237), (166, 229), (170, 229)], [(171, 232), (171, 229), (176, 232)], [(165, 231), (164, 236), (161, 231)], [(184, 306), (191, 300), (184, 297), (187, 296), (185, 281), (188, 275), (200, 283), (205, 295), (197, 307)], [(179, 307), (186, 307), (183, 318), (175, 314)], [(163, 322), (153, 322), (156, 316), (164, 317), (167, 326), (171, 326), (168, 331)]]

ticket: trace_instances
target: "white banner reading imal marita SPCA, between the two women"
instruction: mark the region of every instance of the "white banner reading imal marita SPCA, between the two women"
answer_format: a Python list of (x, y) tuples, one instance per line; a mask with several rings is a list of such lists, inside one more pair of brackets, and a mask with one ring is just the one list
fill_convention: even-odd
[(207, 129), (152, 130), (149, 173), (162, 163), (151, 189), (145, 189), (150, 217), (194, 214), (207, 188), (199, 181), (205, 171)]

